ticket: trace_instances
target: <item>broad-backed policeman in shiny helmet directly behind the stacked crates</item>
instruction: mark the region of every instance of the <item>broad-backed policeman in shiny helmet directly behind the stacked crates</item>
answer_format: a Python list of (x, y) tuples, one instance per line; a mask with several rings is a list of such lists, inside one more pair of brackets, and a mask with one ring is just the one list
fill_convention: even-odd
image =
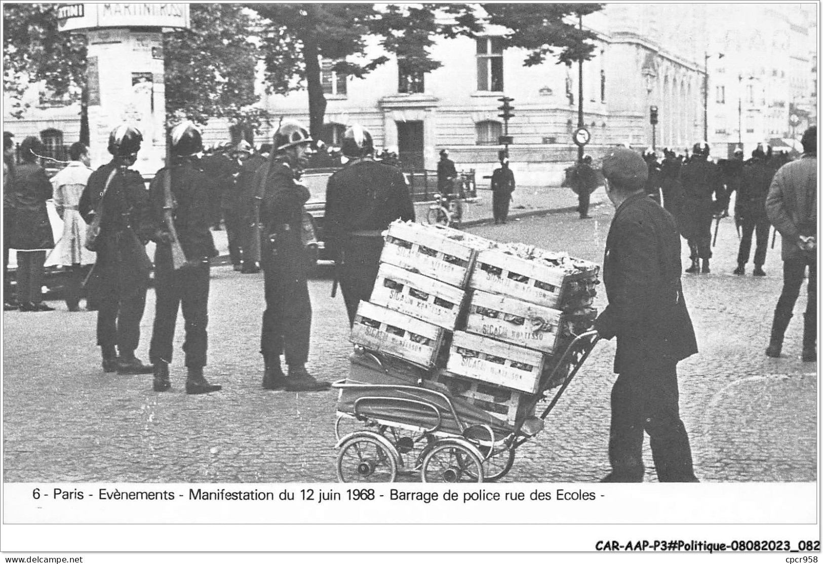
[(414, 221), (414, 206), (400, 170), (373, 158), (370, 132), (360, 125), (346, 130), (344, 169), (328, 178), (326, 246), (337, 261), (349, 324), (360, 300), (368, 300), (377, 277), (383, 231), (393, 220)]

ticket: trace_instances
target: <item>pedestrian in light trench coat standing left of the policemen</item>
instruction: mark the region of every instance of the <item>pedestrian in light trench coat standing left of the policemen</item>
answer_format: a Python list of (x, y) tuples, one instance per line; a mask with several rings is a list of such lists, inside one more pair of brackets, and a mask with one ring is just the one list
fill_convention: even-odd
[[(80, 311), (83, 280), (95, 263), (95, 253), (86, 249), (86, 222), (80, 215), (78, 204), (91, 176), (89, 149), (83, 143), (73, 143), (68, 149), (72, 159), (66, 168), (51, 178), (54, 189), (54, 206), (63, 220), (63, 237), (60, 238), (49, 262), (62, 265), (67, 271), (63, 298), (68, 311)], [(93, 304), (93, 300), (92, 300)], [(89, 300), (86, 298), (86, 306)], [(92, 305), (92, 309), (95, 305)]]

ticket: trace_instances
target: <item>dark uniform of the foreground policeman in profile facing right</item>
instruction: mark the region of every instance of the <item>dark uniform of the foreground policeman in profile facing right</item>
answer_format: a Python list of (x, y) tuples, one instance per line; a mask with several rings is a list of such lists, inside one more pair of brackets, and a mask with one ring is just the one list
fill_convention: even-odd
[(266, 311), (260, 349), (267, 362), (285, 353), (286, 364), (302, 365), (309, 358), (311, 302), (309, 257), (300, 233), (303, 205), (310, 193), (295, 181), (294, 169), (282, 156), (272, 159), (263, 182), (261, 266)]

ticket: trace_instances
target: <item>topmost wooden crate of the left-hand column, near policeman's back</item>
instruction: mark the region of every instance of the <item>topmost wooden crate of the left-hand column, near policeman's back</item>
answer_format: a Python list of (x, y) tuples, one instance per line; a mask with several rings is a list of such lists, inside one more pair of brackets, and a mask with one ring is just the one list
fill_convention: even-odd
[(395, 221), (388, 227), (380, 262), (465, 288), (477, 245), (449, 238), (452, 231)]

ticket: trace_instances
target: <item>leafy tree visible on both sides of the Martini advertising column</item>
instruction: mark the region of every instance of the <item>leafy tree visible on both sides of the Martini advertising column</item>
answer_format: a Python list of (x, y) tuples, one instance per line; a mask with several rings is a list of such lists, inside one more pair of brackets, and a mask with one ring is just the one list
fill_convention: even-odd
[[(4, 86), (12, 95), (12, 115), (26, 111), (21, 97), (32, 83), (44, 81), (50, 93), (81, 99), (81, 141), (88, 143), (86, 113), (86, 39), (58, 31), (53, 3), (3, 5)], [(258, 126), (267, 119), (251, 108), (258, 46), (249, 39), (253, 20), (238, 4), (193, 3), (191, 30), (163, 35), (166, 114), (207, 123), (227, 118)], [(84, 133), (85, 132), (85, 133)]]

